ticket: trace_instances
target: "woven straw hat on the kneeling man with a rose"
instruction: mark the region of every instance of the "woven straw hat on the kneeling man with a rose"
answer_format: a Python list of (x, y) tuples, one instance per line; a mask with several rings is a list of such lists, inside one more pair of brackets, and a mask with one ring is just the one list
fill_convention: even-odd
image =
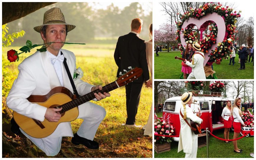
[(65, 24), (67, 25), (67, 32), (71, 31), (76, 27), (75, 25), (67, 24), (63, 13), (59, 8), (56, 8), (56, 7), (51, 8), (44, 13), (43, 24), (41, 26), (34, 27), (34, 30), (40, 33), (43, 26), (49, 25), (49, 24)]

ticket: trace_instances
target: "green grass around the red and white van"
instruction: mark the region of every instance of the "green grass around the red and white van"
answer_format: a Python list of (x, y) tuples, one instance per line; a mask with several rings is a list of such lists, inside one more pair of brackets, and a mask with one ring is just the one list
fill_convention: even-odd
[[(161, 117), (162, 112), (157, 113)], [(224, 129), (213, 131), (217, 137), (223, 138)], [(230, 131), (230, 139), (233, 139), (233, 131)], [(241, 136), (241, 135), (240, 135)], [(240, 137), (239, 136), (239, 137)], [(242, 154), (235, 153), (232, 143), (224, 143), (223, 141), (210, 136), (209, 141), (209, 158), (252, 158), (250, 153), (254, 152), (254, 136), (243, 137), (237, 141), (238, 148), (243, 150)], [(157, 154), (154, 152), (154, 158), (184, 158), (185, 153), (178, 151), (179, 142), (171, 142), (171, 151)], [(206, 146), (197, 149), (197, 158), (207, 158)]]

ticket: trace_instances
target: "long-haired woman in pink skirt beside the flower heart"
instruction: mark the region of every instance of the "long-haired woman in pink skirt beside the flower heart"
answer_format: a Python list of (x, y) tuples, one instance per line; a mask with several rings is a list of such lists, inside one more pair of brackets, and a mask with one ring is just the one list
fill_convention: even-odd
[[(187, 59), (188, 61), (192, 58), (193, 56), (193, 49), (192, 49), (192, 44), (188, 43), (186, 46), (186, 49), (182, 53), (182, 58)], [(182, 68), (181, 71), (183, 72), (183, 79), (187, 79), (187, 74), (190, 74), (192, 72), (192, 68), (186, 65), (183, 61), (181, 62)]]

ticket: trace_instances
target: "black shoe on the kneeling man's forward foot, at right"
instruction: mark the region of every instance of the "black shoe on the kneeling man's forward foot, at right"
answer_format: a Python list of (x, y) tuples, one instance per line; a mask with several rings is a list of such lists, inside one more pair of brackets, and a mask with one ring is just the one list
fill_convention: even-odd
[(96, 141), (91, 141), (89, 139), (80, 137), (77, 135), (77, 133), (74, 134), (74, 137), (72, 137), (71, 142), (75, 145), (83, 144), (89, 149), (98, 149), (99, 144)]

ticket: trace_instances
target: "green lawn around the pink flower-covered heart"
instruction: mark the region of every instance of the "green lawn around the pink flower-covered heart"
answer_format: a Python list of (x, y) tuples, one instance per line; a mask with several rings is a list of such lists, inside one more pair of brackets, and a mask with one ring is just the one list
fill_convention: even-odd
[[(181, 60), (174, 59), (175, 56), (181, 57), (179, 51), (158, 52), (160, 56), (154, 54), (154, 78), (155, 79), (179, 79), (181, 72)], [(254, 79), (254, 66), (252, 63), (245, 63), (245, 70), (238, 70), (240, 63), (238, 55), (235, 58), (235, 65), (229, 64), (228, 60), (223, 60), (220, 65), (213, 64), (218, 79)]]

